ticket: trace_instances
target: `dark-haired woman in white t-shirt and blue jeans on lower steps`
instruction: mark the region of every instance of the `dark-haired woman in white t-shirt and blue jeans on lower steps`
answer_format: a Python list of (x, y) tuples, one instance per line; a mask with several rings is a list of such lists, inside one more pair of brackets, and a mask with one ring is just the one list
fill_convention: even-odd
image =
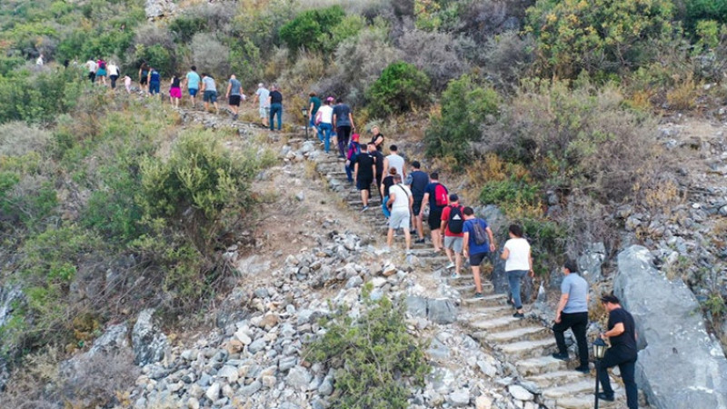
[(530, 244), (523, 238), (523, 227), (518, 224), (510, 224), (508, 228), (510, 239), (505, 242), (503, 254), (500, 258), (505, 261), (505, 274), (507, 283), (510, 284), (510, 298), (515, 308), (515, 318), (523, 318), (523, 301), (520, 299), (520, 282), (525, 274), (533, 277), (533, 255), (530, 253)]

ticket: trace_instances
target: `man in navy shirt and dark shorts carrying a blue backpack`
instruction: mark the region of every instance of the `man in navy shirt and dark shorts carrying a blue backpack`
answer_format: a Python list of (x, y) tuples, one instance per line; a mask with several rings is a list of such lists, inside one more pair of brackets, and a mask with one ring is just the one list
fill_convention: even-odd
[(470, 257), (474, 277), (474, 298), (483, 297), (483, 284), (480, 279), (480, 264), (494, 251), (493, 231), (483, 219), (474, 216), (472, 207), (465, 207), (463, 231), (463, 255)]

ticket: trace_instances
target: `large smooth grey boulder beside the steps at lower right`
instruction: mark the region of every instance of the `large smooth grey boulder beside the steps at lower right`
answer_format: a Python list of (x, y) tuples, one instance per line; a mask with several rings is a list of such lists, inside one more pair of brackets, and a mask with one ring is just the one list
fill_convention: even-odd
[(649, 402), (662, 409), (727, 407), (727, 359), (682, 280), (666, 279), (652, 254), (633, 245), (618, 256), (613, 290), (636, 322), (636, 382)]

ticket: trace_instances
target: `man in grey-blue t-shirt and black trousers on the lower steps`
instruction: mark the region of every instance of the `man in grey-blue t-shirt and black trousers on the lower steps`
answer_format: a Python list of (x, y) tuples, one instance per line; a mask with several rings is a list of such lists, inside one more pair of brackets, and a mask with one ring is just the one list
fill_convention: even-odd
[(587, 374), (588, 369), (588, 343), (585, 340), (585, 330), (588, 326), (588, 283), (578, 275), (578, 264), (568, 260), (563, 264), (563, 282), (561, 283), (561, 299), (555, 314), (553, 333), (558, 352), (553, 358), (568, 361), (568, 349), (565, 347), (563, 333), (571, 328), (575, 341), (578, 343), (578, 358), (581, 364), (576, 371)]

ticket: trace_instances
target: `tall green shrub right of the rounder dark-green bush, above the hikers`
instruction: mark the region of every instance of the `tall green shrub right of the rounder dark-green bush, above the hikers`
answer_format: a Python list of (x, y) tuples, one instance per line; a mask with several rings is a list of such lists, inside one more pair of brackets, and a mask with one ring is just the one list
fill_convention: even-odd
[(500, 96), (491, 87), (478, 85), (472, 76), (451, 81), (442, 95), (442, 112), (433, 115), (426, 130), (426, 153), (452, 157), (458, 165), (470, 159), (469, 143), (479, 140), (480, 126), (488, 115), (497, 115)]

